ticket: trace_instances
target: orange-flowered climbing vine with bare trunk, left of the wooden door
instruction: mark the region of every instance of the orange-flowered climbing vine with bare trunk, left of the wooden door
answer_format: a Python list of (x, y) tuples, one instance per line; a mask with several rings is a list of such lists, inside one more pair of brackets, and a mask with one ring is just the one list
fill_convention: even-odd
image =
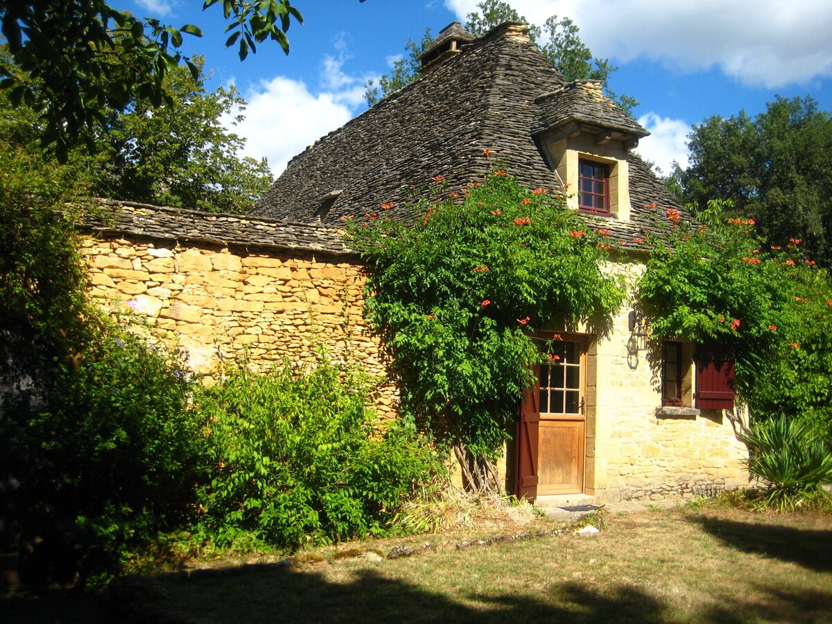
[(624, 289), (602, 270), (604, 234), (561, 195), (495, 170), (464, 189), (433, 177), (420, 198), (349, 219), (366, 312), (392, 348), (403, 417), (453, 448), (469, 488), (498, 488), (492, 462), (547, 356), (536, 330), (603, 333)]

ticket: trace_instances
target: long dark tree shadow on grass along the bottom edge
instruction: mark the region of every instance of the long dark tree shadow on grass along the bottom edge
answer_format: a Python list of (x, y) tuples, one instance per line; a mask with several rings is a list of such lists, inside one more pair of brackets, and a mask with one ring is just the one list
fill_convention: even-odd
[(443, 587), (426, 592), (357, 570), (349, 582), (317, 572), (276, 570), (217, 578), (168, 578), (172, 603), (197, 618), (223, 622), (666, 622), (666, 606), (633, 587), (599, 593), (575, 583), (540, 595), (480, 595)]

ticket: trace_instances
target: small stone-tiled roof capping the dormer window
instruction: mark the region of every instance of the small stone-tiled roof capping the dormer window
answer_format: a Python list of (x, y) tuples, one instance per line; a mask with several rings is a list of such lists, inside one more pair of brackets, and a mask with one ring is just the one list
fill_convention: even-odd
[(538, 126), (532, 130), (535, 134), (564, 126), (571, 121), (625, 131), (638, 137), (650, 134), (603, 94), (602, 82), (598, 80), (568, 82), (557, 91), (537, 97), (535, 103), (541, 109)]

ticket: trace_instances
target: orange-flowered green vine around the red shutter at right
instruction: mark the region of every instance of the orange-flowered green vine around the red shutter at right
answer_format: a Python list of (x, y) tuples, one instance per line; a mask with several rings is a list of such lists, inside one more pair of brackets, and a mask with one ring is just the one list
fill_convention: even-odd
[(707, 225), (667, 210), (651, 240), (639, 297), (652, 334), (726, 344), (752, 422), (784, 414), (832, 435), (832, 287), (802, 241), (765, 245), (754, 220), (711, 204)]

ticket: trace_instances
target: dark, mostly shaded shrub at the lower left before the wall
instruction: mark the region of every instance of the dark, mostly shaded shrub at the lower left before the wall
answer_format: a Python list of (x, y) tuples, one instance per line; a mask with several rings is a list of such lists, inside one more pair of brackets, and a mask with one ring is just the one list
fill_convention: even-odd
[(201, 422), (176, 353), (102, 324), (75, 362), (3, 402), (5, 542), (27, 580), (86, 581), (178, 526), (195, 501)]

